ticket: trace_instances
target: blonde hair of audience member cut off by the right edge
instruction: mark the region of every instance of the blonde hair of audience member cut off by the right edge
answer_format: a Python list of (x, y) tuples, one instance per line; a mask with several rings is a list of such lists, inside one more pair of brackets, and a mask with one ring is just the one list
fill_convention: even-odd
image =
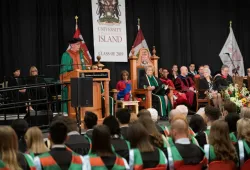
[(242, 118), (237, 122), (238, 139), (245, 139), (250, 142), (250, 119)]

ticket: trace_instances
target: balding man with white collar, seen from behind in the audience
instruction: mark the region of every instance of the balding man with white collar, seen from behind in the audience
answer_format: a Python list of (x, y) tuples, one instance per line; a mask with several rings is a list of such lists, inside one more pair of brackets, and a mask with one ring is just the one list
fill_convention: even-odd
[[(199, 146), (192, 144), (188, 134), (188, 123), (185, 118), (175, 118), (171, 122), (171, 136), (174, 143), (170, 143), (173, 161), (183, 161), (184, 165), (205, 164), (204, 152)], [(175, 160), (178, 158), (178, 160)], [(180, 164), (179, 164), (180, 165)], [(171, 165), (170, 165), (171, 166)], [(172, 165), (173, 166), (173, 165)], [(178, 169), (177, 164), (174, 168)]]

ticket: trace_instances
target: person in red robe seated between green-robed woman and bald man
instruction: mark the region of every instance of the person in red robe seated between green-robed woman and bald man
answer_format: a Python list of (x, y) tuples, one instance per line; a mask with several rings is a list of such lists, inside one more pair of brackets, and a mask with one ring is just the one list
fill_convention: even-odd
[(168, 97), (171, 100), (171, 103), (173, 106), (179, 105), (179, 104), (187, 104), (187, 97), (185, 93), (181, 93), (178, 90), (175, 89), (174, 83), (172, 80), (168, 78), (169, 71), (166, 68), (162, 69), (162, 77), (160, 80), (163, 84), (167, 85), (170, 89), (168, 93)]

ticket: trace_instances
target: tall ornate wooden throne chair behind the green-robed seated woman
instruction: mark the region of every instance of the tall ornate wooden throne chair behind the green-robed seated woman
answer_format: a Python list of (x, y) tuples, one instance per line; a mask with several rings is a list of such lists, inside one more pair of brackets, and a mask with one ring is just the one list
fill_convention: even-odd
[[(130, 75), (131, 75), (131, 84), (132, 84), (132, 95), (133, 97), (137, 95), (144, 95), (145, 100), (141, 100), (139, 106), (144, 108), (151, 108), (152, 107), (152, 91), (148, 89), (139, 89), (139, 79), (140, 76), (145, 74), (144, 67), (146, 65), (153, 65), (155, 72), (154, 75), (158, 77), (158, 59), (159, 57), (156, 56), (155, 47), (153, 47), (152, 56), (149, 55), (148, 58), (142, 58), (142, 53), (148, 51), (145, 48), (141, 48), (139, 50), (139, 56), (135, 56), (134, 47), (132, 47), (131, 53), (132, 56), (129, 57), (130, 61)], [(146, 63), (146, 64), (145, 64)]]

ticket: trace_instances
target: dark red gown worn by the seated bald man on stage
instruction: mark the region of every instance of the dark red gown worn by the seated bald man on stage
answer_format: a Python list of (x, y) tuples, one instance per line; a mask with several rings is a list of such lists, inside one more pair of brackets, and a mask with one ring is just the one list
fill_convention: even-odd
[(182, 93), (185, 93), (187, 98), (187, 105), (192, 107), (194, 104), (195, 93), (190, 91), (189, 88), (193, 87), (195, 89), (195, 84), (192, 78), (190, 77), (183, 77), (179, 75), (175, 80), (175, 87), (176, 90), (179, 90)]

